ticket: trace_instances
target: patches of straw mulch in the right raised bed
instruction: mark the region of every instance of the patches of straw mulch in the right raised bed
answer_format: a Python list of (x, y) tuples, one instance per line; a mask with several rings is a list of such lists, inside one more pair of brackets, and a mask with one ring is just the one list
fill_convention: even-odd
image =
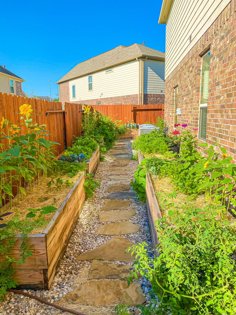
[[(150, 175), (152, 185), (154, 188), (154, 192), (156, 194), (157, 202), (160, 204), (160, 198), (157, 197), (158, 193), (171, 193), (174, 190), (174, 184), (171, 182), (171, 179), (168, 177), (165, 178), (158, 178), (155, 175)], [(168, 203), (171, 203), (172, 199), (169, 199)], [(163, 202), (163, 201), (162, 201)], [(196, 196), (194, 200), (189, 200), (188, 195), (183, 194), (181, 192), (177, 193), (176, 198), (174, 198), (174, 205), (175, 207), (181, 207), (182, 205), (186, 204), (186, 207), (194, 207), (199, 209), (204, 209), (206, 205), (209, 204), (209, 201), (206, 200), (205, 194), (201, 194), (199, 196)], [(168, 220), (168, 211), (173, 210), (173, 207), (170, 207), (166, 209), (166, 207), (163, 207), (163, 209), (160, 208), (162, 217), (166, 217), (167, 224), (170, 224), (171, 222)], [(178, 209), (179, 212), (182, 212), (182, 209)], [(232, 215), (229, 213), (227, 214), (228, 220), (235, 221)], [(216, 220), (220, 220), (220, 215), (216, 216)]]

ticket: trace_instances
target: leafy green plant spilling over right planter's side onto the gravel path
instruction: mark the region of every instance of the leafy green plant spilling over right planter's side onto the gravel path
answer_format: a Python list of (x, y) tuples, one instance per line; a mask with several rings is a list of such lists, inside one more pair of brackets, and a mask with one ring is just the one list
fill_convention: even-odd
[(133, 187), (133, 191), (136, 192), (135, 197), (138, 197), (138, 201), (146, 200), (146, 171), (143, 168), (143, 163), (138, 164), (138, 169), (134, 171), (134, 181), (132, 180), (130, 185)]

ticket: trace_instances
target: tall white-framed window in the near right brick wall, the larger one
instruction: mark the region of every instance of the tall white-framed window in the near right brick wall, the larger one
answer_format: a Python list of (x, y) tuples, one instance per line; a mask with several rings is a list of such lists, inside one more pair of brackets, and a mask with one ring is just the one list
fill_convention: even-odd
[(210, 51), (202, 56), (200, 106), (199, 106), (199, 138), (206, 139), (207, 99), (209, 86)]

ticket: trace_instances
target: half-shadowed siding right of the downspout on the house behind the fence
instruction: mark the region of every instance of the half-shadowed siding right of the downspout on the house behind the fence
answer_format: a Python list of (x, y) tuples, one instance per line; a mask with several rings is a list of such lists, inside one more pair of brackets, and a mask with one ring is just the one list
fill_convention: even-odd
[(155, 60), (144, 61), (143, 93), (165, 94), (165, 62)]

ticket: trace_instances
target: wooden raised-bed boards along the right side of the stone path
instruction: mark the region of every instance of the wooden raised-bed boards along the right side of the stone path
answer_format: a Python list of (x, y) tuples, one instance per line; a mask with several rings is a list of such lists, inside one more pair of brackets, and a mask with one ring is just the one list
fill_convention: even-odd
[[(143, 159), (143, 154), (141, 152), (138, 152), (138, 162), (141, 163)], [(157, 240), (157, 231), (155, 228), (155, 220), (162, 219), (162, 215), (160, 212), (160, 207), (156, 199), (156, 195), (154, 192), (154, 188), (152, 186), (152, 181), (149, 175), (149, 172), (146, 171), (146, 207), (147, 207), (147, 213), (148, 213), (148, 222), (150, 227), (150, 234), (152, 238), (152, 247), (154, 249), (154, 255), (158, 256), (156, 249), (156, 246), (158, 245)]]

